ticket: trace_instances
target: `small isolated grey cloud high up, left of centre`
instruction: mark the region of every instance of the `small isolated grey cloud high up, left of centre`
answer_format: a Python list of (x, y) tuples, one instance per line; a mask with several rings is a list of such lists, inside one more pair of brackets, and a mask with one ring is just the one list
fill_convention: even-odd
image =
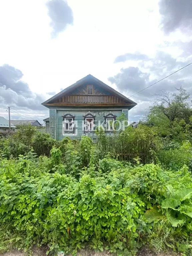
[(73, 25), (73, 11), (64, 0), (50, 0), (46, 3), (48, 15), (51, 18), (51, 27), (53, 28), (52, 37), (64, 31), (67, 25)]

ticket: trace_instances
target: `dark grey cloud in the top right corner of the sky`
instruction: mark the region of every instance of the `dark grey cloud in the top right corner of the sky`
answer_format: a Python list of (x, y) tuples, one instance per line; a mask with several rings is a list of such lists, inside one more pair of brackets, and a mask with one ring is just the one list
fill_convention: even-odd
[(191, 0), (160, 0), (159, 12), (162, 15), (162, 28), (166, 34), (181, 29), (192, 29)]

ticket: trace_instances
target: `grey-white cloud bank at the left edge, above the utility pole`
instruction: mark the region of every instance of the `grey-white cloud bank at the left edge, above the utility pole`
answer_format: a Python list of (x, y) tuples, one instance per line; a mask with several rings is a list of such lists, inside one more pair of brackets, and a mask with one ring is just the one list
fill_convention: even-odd
[(43, 110), (41, 103), (45, 97), (30, 90), (29, 85), (23, 82), (22, 72), (8, 64), (0, 66), (0, 102), (3, 105)]

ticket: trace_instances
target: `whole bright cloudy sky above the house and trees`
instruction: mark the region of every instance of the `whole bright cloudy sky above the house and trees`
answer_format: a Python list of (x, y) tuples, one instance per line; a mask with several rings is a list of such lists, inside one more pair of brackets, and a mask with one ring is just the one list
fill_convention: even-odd
[[(0, 115), (48, 117), (43, 101), (91, 74), (129, 97), (192, 62), (192, 0), (0, 0)], [(130, 97), (138, 121), (192, 65)], [(19, 115), (19, 114), (20, 115)]]

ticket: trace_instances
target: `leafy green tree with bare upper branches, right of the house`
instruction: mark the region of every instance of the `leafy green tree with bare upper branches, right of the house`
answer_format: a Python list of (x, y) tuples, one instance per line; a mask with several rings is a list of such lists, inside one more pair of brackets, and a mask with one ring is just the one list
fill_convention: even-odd
[(153, 126), (163, 137), (171, 135), (183, 140), (192, 116), (190, 94), (182, 87), (176, 90), (178, 93), (162, 90), (160, 94), (154, 95), (155, 105), (149, 108), (145, 124)]

